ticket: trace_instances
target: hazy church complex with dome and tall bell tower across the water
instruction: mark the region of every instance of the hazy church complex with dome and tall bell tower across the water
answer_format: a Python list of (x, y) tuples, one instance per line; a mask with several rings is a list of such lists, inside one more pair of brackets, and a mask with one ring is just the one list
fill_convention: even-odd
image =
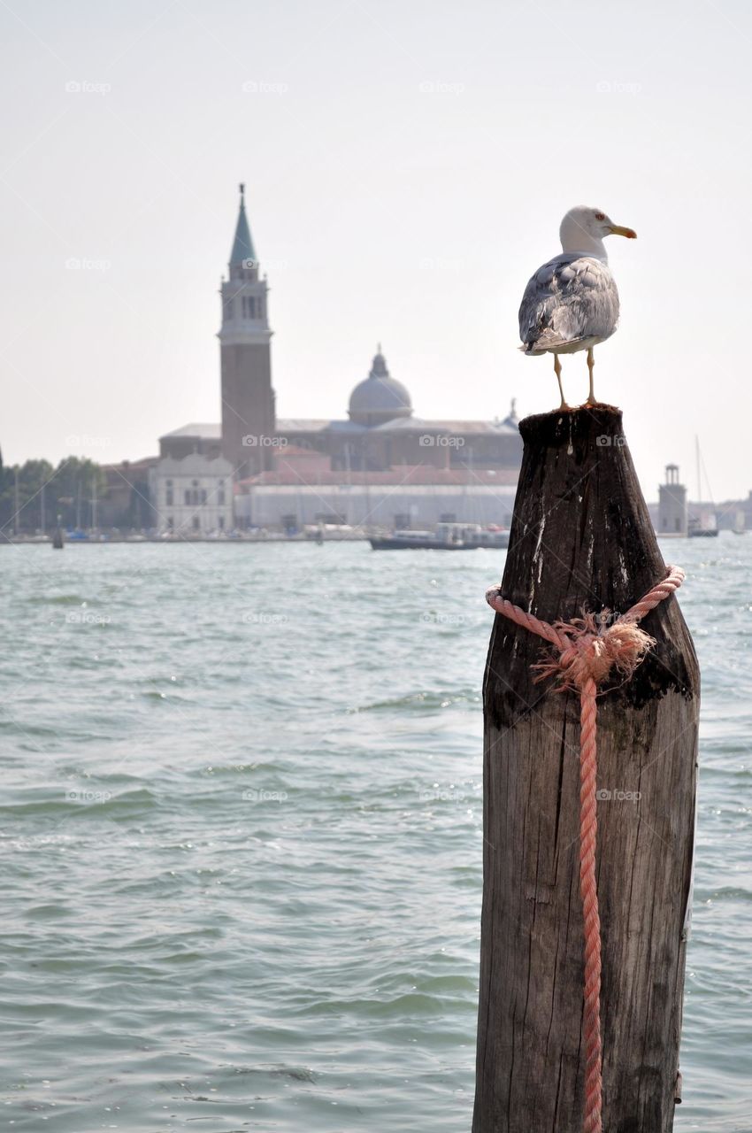
[(276, 417), (268, 288), (259, 267), (241, 186), (221, 288), (222, 421), (160, 438), (149, 479), (160, 529), (420, 526), (450, 517), (509, 522), (522, 455), (514, 402), (503, 420), (419, 417), (379, 347), (350, 393), (347, 416)]

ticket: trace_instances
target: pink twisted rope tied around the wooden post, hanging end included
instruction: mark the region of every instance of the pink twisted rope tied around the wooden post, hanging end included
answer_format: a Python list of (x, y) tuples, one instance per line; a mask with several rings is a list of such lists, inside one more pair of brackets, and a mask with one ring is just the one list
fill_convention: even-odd
[[(536, 680), (556, 675), (558, 691), (576, 689), (580, 693), (580, 895), (584, 927), (584, 1114), (583, 1133), (601, 1133), (603, 1062), (600, 1047), (600, 915), (596, 885), (596, 842), (598, 816), (596, 785), (598, 751), (598, 684), (613, 668), (631, 676), (655, 641), (638, 623), (684, 581), (681, 566), (669, 566), (666, 578), (652, 587), (625, 614), (606, 627), (604, 617), (586, 614), (571, 622), (550, 625), (525, 613), (506, 598), (498, 587), (486, 590), (486, 602), (497, 614), (550, 642), (558, 656), (533, 666)], [(604, 614), (607, 614), (604, 611)]]

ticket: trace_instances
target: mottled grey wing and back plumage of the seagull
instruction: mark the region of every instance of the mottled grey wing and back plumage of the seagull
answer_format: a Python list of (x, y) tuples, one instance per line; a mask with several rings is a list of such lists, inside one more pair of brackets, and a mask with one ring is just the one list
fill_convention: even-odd
[(607, 339), (618, 323), (618, 291), (608, 264), (590, 256), (559, 256), (539, 267), (520, 305), (520, 338), (528, 350), (536, 343)]

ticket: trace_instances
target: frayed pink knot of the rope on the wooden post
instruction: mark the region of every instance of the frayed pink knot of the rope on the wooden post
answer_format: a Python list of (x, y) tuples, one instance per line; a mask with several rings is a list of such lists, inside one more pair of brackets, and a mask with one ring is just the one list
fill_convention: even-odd
[(655, 645), (655, 639), (634, 622), (617, 619), (606, 625), (609, 612), (584, 614), (571, 622), (555, 622), (554, 629), (565, 642), (556, 654), (549, 654), (532, 667), (536, 681), (556, 676), (556, 692), (582, 690), (587, 681), (600, 684), (612, 670), (630, 678), (646, 653)]

